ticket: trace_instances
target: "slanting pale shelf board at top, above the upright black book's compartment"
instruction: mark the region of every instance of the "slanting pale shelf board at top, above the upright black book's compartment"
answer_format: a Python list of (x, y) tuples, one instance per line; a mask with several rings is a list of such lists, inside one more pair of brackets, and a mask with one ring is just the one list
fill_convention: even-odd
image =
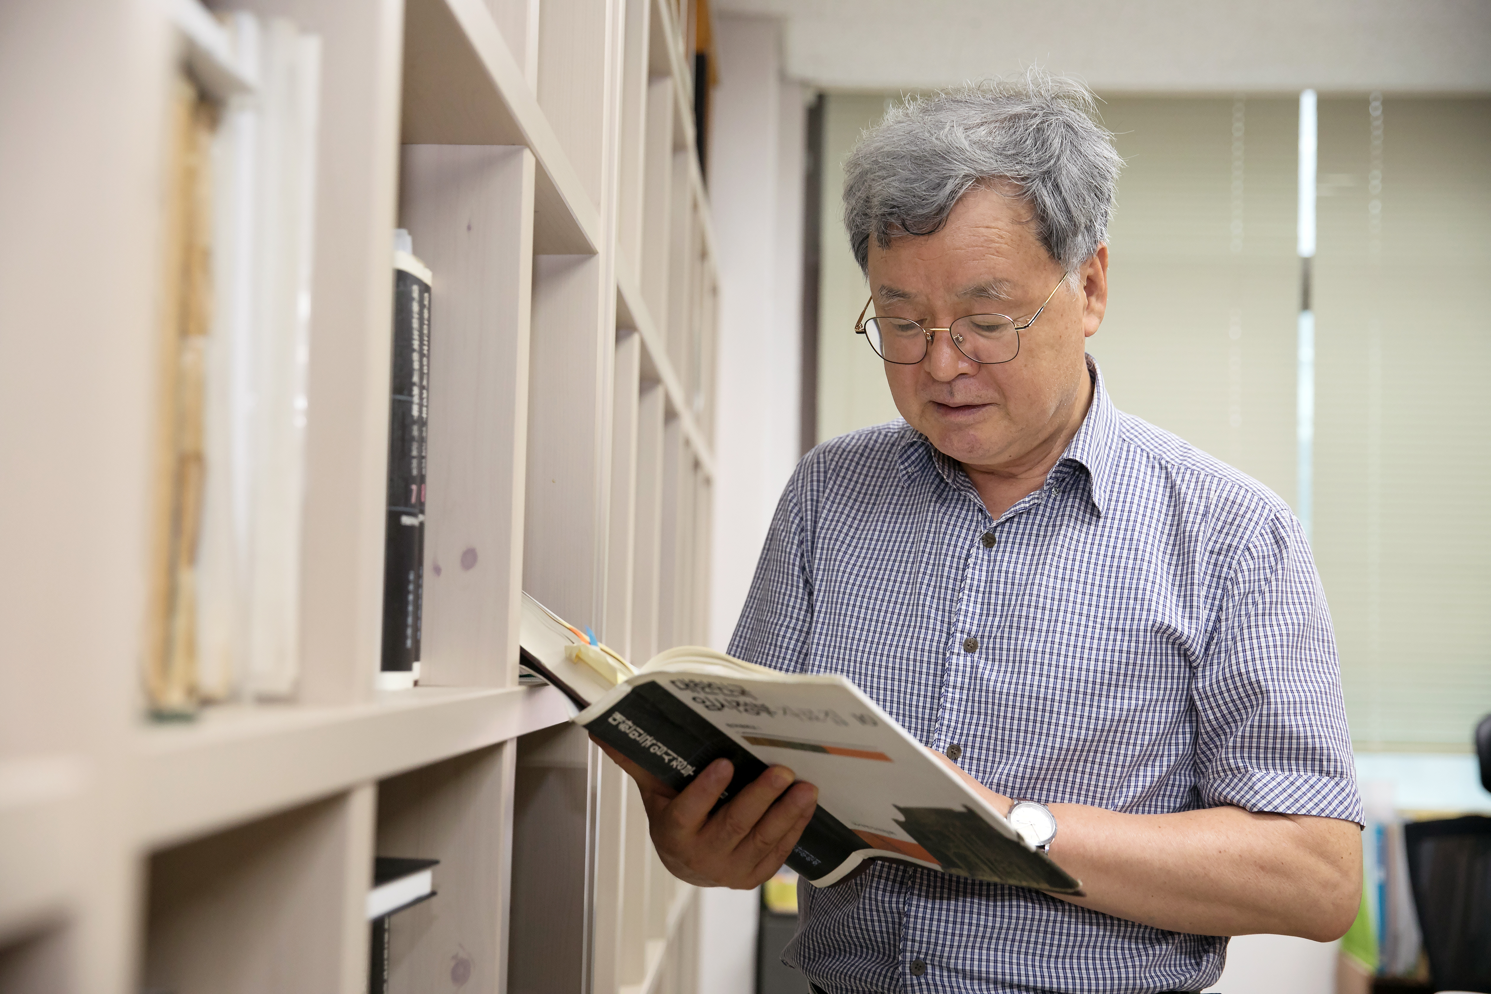
[(534, 252), (595, 255), (601, 215), (482, 0), (409, 0), (404, 145), (523, 145), (538, 164)]

